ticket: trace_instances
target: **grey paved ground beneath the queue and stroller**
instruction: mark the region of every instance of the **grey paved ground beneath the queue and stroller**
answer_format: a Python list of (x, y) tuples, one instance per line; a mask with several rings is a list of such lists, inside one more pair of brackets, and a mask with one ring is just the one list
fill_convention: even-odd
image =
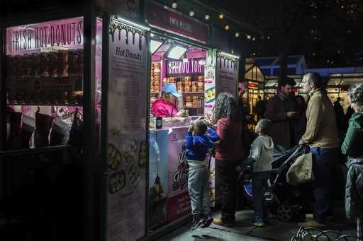
[[(328, 228), (333, 230), (333, 240), (337, 235), (341, 234), (355, 234), (354, 226), (345, 222), (345, 216), (342, 213), (336, 213), (335, 222), (330, 223)], [(218, 216), (218, 213), (216, 213)], [(194, 231), (190, 230), (191, 223), (175, 230), (169, 235), (160, 238), (161, 241), (189, 241), (189, 240), (244, 240), (244, 241), (258, 241), (258, 240), (276, 240), (276, 241), (289, 241), (291, 237), (298, 232), (297, 223), (286, 223), (272, 218), (270, 224), (264, 228), (255, 228), (250, 225), (250, 220), (253, 218), (253, 211), (239, 211), (237, 214), (237, 222), (234, 228), (224, 228), (218, 225), (211, 225), (210, 228), (199, 228)], [(327, 238), (323, 239), (327, 240)]]

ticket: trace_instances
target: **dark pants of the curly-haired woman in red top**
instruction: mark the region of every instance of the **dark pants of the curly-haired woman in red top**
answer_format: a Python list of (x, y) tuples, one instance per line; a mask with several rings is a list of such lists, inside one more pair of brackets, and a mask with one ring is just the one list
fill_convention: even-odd
[(222, 221), (233, 223), (235, 221), (236, 201), (236, 178), (237, 172), (234, 168), (238, 165), (237, 160), (216, 160), (216, 180), (220, 182), (222, 192)]

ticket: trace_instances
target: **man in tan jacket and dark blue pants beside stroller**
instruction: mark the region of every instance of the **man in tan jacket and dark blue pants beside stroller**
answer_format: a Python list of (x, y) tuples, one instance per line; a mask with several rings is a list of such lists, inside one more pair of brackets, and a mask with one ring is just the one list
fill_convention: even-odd
[(323, 227), (330, 215), (330, 180), (335, 160), (340, 154), (340, 140), (332, 102), (319, 74), (303, 76), (303, 90), (308, 94), (306, 132), (299, 141), (310, 146), (313, 154), (313, 194), (315, 213), (313, 220), (299, 223), (302, 227)]

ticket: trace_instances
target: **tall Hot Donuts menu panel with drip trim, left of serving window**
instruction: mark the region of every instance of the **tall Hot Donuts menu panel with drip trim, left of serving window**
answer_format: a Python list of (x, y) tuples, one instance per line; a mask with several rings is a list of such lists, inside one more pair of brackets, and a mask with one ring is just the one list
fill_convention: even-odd
[(111, 20), (107, 240), (145, 236), (147, 35)]

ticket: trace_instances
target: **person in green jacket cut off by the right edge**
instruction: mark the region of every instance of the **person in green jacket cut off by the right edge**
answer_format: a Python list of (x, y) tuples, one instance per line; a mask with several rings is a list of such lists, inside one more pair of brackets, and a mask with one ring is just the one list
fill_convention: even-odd
[(363, 83), (351, 86), (348, 96), (355, 113), (349, 121), (342, 153), (348, 156), (345, 214), (353, 221), (363, 218)]

